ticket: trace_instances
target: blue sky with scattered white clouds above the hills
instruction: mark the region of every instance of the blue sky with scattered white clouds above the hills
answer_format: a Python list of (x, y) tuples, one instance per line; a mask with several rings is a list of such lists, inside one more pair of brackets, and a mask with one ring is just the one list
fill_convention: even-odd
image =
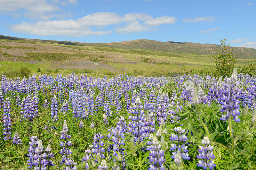
[(0, 0), (0, 35), (108, 43), (133, 39), (256, 48), (256, 1)]

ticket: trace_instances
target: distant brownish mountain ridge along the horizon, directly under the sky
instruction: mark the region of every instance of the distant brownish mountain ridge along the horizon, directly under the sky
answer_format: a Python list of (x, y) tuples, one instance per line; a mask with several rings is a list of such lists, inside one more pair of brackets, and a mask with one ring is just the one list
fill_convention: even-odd
[[(108, 47), (108, 48), (124, 48), (124, 49), (136, 49), (136, 50), (154, 50), (172, 53), (186, 53), (195, 55), (212, 55), (220, 50), (220, 45), (216, 44), (200, 44), (193, 42), (175, 42), (175, 41), (155, 41), (149, 39), (137, 39), (132, 41), (121, 41), (111, 43), (81, 43), (70, 41), (56, 41), (56, 40), (42, 40), (42, 39), (24, 39), (17, 37), (9, 37), (0, 35), (0, 39), (8, 40), (21, 40), (21, 41), (36, 41), (36, 42), (48, 42), (56, 44), (64, 44), (70, 46), (95, 46), (95, 47)], [(256, 49), (246, 47), (230, 47), (237, 55), (237, 58), (241, 59), (256, 59)]]

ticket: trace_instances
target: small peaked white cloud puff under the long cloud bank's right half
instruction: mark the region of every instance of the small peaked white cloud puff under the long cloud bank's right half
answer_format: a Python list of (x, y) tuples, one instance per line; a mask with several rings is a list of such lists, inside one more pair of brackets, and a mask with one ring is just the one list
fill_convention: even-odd
[(127, 34), (132, 32), (151, 31), (147, 26), (141, 25), (138, 21), (132, 21), (130, 24), (125, 25), (122, 28), (116, 28), (116, 32), (119, 34)]

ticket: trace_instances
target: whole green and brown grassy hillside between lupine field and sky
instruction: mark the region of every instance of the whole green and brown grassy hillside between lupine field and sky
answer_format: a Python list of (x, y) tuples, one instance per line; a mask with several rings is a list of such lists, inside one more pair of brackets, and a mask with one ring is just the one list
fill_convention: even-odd
[[(237, 65), (256, 59), (256, 49), (231, 48)], [(219, 49), (214, 44), (147, 39), (103, 44), (0, 36), (0, 68), (1, 74), (26, 65), (32, 72), (40, 68), (37, 74), (168, 76), (213, 66), (212, 53)]]

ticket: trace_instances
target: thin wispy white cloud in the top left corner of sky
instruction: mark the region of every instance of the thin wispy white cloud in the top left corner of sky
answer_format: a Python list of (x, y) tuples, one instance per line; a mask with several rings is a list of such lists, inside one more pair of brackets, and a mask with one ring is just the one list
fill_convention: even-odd
[[(59, 5), (75, 4), (76, 0), (0, 0), (0, 13), (25, 16), (30, 19), (58, 17)], [(63, 15), (63, 14), (62, 14)]]

